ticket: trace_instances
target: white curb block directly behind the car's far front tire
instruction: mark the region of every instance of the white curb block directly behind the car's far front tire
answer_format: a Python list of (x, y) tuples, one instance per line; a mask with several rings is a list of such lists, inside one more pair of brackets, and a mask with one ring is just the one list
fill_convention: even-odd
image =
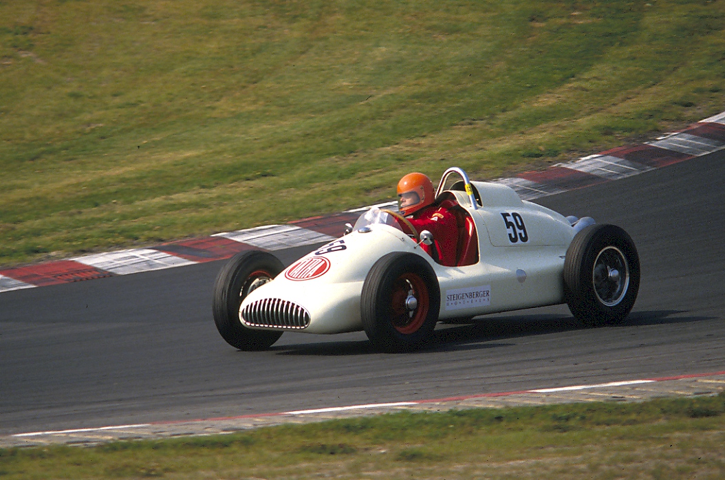
[(247, 230), (216, 233), (212, 236), (222, 236), (225, 239), (239, 241), (270, 252), (302, 245), (320, 244), (335, 239), (324, 233), (294, 225), (266, 225)]

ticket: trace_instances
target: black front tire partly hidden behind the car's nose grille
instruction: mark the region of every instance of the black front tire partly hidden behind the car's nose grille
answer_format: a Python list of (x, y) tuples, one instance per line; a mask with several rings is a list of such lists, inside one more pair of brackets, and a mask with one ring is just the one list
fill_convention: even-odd
[(220, 270), (214, 283), (212, 311), (222, 338), (240, 350), (268, 349), (281, 331), (252, 330), (239, 320), (239, 305), (256, 286), (278, 276), (284, 265), (277, 257), (252, 250), (241, 252)]

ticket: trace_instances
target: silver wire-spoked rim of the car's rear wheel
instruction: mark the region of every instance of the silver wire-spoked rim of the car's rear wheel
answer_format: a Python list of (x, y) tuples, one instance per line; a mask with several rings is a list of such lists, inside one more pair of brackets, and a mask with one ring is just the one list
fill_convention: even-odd
[(606, 247), (599, 252), (592, 273), (597, 299), (614, 307), (624, 299), (629, 288), (629, 264), (617, 247)]

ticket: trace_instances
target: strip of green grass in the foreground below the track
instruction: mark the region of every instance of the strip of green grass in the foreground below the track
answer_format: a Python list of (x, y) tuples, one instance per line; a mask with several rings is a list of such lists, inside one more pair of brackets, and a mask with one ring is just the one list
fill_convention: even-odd
[(0, 478), (722, 479), (725, 394), (398, 413), (223, 436), (0, 450)]

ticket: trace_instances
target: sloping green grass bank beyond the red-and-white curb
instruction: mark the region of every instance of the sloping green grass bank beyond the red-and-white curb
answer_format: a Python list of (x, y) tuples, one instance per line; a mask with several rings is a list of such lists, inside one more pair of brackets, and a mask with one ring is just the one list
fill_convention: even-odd
[(680, 128), (724, 52), (724, 0), (0, 1), (0, 265)]

